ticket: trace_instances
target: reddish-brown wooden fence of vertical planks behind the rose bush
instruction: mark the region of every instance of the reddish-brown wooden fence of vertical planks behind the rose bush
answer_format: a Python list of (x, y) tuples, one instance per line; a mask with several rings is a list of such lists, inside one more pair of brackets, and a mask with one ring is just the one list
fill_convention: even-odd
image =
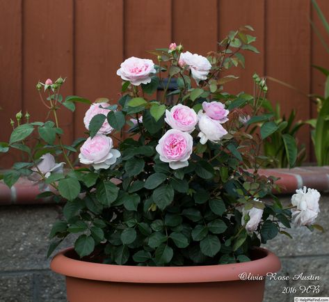
[[(329, 1), (318, 0), (329, 18)], [(152, 57), (145, 50), (182, 42), (198, 54), (216, 48), (231, 29), (250, 24), (261, 54), (248, 54), (246, 70), (231, 92), (252, 92), (253, 72), (275, 77), (302, 93), (268, 82), (268, 97), (280, 102), (284, 113), (298, 118), (316, 116), (306, 96), (323, 91), (323, 76), (314, 65), (328, 67), (329, 56), (310, 25), (326, 36), (310, 0), (0, 0), (0, 141), (8, 141), (9, 119), (29, 111), (43, 119), (35, 90), (38, 80), (67, 77), (65, 95), (93, 100), (118, 100), (120, 78), (115, 72), (129, 56)], [(326, 39), (329, 40), (329, 39)], [(65, 141), (83, 134), (86, 106), (76, 113), (63, 111)], [(300, 141), (310, 154), (310, 129)], [(16, 160), (1, 155), (0, 168)]]

